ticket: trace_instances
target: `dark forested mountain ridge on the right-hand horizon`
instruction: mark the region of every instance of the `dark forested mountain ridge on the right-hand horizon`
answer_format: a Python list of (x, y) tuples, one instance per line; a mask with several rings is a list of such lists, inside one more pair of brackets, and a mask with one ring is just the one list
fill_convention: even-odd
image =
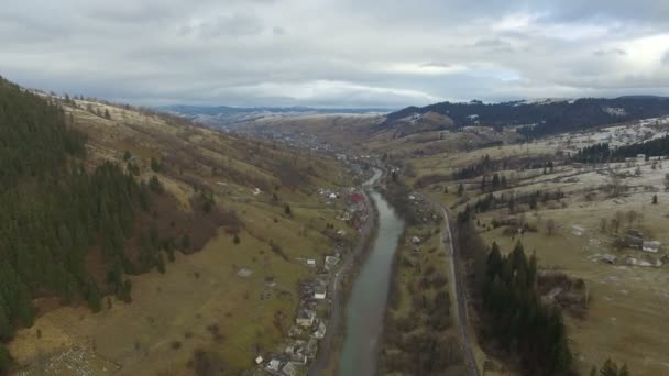
[[(612, 99), (542, 99), (492, 104), (476, 100), (469, 103), (441, 102), (388, 113), (375, 130), (406, 129), (407, 123), (421, 124), (424, 118), (434, 118), (435, 113), (448, 118), (434, 125), (441, 129), (468, 125), (495, 129), (517, 126), (520, 134), (540, 136), (666, 115), (669, 114), (669, 98), (632, 96)], [(421, 131), (421, 128), (417, 131)]]

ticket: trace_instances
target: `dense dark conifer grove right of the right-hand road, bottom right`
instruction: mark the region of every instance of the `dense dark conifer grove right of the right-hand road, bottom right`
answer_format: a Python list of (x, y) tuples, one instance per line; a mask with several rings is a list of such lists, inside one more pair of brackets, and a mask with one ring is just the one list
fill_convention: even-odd
[(560, 310), (546, 306), (537, 290), (537, 261), (518, 243), (508, 256), (490, 252), (476, 234), (473, 211), (458, 214), (456, 240), (472, 261), (473, 306), (483, 317), (481, 336), (497, 351), (517, 356), (525, 375), (564, 375), (572, 355)]

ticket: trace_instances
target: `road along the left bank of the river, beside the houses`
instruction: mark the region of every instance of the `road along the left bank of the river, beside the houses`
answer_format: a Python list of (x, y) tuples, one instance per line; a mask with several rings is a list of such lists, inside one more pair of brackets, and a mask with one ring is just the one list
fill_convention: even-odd
[[(377, 177), (376, 177), (377, 178)], [(329, 295), (332, 299), (330, 305), (330, 320), (328, 322), (328, 330), (326, 331), (325, 338), (320, 341), (319, 350), (316, 358), (311, 362), (309, 366), (308, 375), (309, 376), (320, 376), (325, 373), (328, 367), (328, 361), (330, 360), (330, 355), (332, 354), (333, 347), (336, 345), (334, 340), (340, 334), (342, 329), (342, 314), (343, 309), (341, 305), (341, 279), (346, 276), (351, 267), (355, 263), (355, 258), (359, 254), (364, 251), (364, 247), (368, 243), (368, 239), (373, 233), (373, 229), (376, 220), (372, 217), (374, 215), (374, 209), (372, 208), (372, 199), (370, 198), (365, 186), (362, 191), (364, 195), (364, 203), (368, 212), (368, 220), (364, 222), (364, 226), (360, 233), (360, 239), (349, 255), (347, 255), (343, 261), (341, 267), (334, 274), (334, 278), (330, 279), (330, 285), (328, 286)]]

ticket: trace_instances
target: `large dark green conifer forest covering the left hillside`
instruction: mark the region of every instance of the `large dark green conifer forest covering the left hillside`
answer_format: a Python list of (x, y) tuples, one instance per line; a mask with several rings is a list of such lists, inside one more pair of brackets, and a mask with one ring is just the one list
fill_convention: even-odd
[[(124, 242), (135, 210), (150, 210), (147, 186), (111, 163), (88, 172), (85, 136), (63, 110), (3, 79), (0, 145), (0, 340), (33, 323), (36, 297), (83, 299), (94, 310), (103, 291), (129, 300), (122, 275), (134, 265)], [(91, 248), (100, 252), (101, 278), (88, 270)], [(0, 345), (0, 372), (7, 355)]]

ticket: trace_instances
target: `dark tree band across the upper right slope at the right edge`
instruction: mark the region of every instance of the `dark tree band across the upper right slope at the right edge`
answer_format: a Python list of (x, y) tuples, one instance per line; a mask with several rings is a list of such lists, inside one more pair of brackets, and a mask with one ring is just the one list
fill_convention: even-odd
[(580, 163), (621, 162), (625, 158), (644, 154), (646, 159), (654, 156), (669, 155), (669, 134), (660, 139), (640, 142), (632, 145), (611, 147), (608, 143), (597, 143), (580, 148), (572, 161)]

